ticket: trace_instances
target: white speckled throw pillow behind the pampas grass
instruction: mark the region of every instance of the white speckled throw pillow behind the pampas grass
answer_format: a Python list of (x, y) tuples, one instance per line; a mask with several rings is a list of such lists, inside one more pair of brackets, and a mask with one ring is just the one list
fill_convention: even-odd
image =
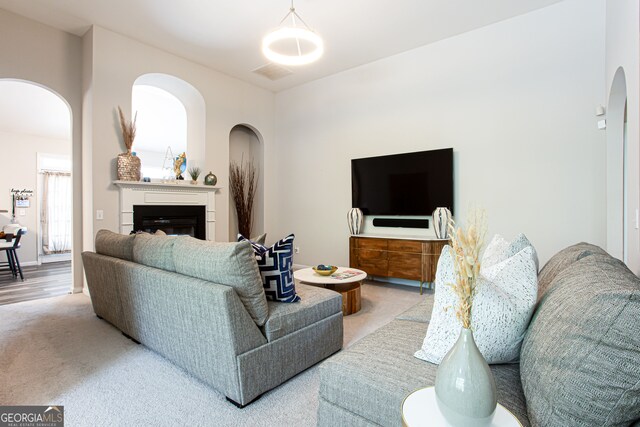
[[(534, 249), (527, 246), (493, 265), (482, 266), (473, 300), (471, 322), (478, 349), (489, 364), (518, 360), (522, 338), (538, 294)], [(453, 253), (445, 246), (438, 261), (431, 321), (419, 359), (439, 364), (453, 347), (462, 327), (454, 306), (458, 298), (449, 283), (455, 280)]]

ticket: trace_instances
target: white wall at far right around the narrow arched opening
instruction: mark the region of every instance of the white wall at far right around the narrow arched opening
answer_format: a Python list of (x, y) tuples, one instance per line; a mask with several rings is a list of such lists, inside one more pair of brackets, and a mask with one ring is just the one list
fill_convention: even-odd
[[(640, 209), (640, 5), (638, 0), (608, 0), (606, 30), (606, 89), (612, 87), (614, 75), (621, 67), (627, 87), (627, 265), (635, 274), (640, 274), (640, 234), (636, 227), (636, 211)], [(607, 100), (607, 104), (609, 100)], [(607, 155), (615, 152), (614, 123), (608, 118)], [(622, 175), (621, 165), (609, 165), (609, 179), (612, 173)], [(616, 203), (610, 200), (609, 204)], [(612, 206), (611, 212), (615, 212)], [(608, 220), (615, 219), (609, 217)], [(608, 236), (610, 244), (618, 242), (616, 236)], [(613, 242), (613, 243), (612, 243)], [(618, 246), (618, 245), (616, 245)], [(612, 250), (614, 248), (609, 248)]]

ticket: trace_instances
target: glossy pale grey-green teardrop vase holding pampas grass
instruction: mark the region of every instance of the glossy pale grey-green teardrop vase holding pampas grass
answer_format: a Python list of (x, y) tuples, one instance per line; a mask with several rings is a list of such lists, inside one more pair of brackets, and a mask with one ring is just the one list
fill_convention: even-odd
[(498, 404), (496, 383), (473, 339), (462, 328), (454, 346), (436, 371), (436, 402), (455, 427), (490, 426)]

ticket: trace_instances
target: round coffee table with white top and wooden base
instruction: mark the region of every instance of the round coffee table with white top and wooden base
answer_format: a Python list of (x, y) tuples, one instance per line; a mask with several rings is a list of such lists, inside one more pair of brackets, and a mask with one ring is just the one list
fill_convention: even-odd
[[(346, 277), (349, 276), (349, 277)], [(367, 273), (357, 268), (338, 267), (331, 276), (321, 276), (312, 268), (293, 272), (293, 277), (309, 285), (324, 286), (342, 295), (342, 314), (348, 316), (360, 311), (360, 286)]]

